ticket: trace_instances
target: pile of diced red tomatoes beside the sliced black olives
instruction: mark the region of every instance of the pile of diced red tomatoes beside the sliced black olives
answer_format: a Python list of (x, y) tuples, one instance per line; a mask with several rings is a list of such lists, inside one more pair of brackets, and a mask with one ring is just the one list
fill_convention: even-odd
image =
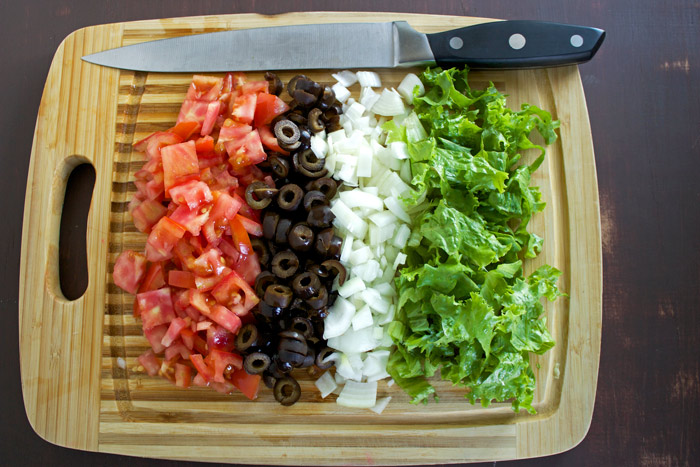
[(195, 75), (177, 124), (134, 144), (147, 162), (129, 211), (148, 240), (144, 253), (119, 256), (114, 283), (136, 294), (134, 315), (151, 344), (139, 362), (149, 375), (256, 397), (260, 375), (247, 374), (234, 351), (259, 302), (250, 235), (262, 227), (244, 192), (255, 181), (274, 187), (255, 164), (265, 148), (283, 152), (269, 124), (288, 109), (267, 81)]

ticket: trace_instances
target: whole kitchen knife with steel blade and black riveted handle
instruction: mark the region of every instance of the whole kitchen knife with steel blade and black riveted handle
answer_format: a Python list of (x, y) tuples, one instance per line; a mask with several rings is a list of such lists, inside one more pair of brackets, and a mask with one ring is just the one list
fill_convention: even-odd
[(495, 21), (423, 34), (405, 21), (277, 26), (161, 39), (83, 57), (151, 72), (223, 72), (415, 65), (536, 68), (582, 63), (600, 29), (541, 21)]

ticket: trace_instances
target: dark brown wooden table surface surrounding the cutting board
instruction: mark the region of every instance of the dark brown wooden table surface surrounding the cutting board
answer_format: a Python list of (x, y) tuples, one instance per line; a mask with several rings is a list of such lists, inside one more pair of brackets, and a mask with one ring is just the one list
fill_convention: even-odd
[[(539, 19), (607, 31), (596, 58), (581, 66), (604, 255), (603, 341), (593, 422), (583, 442), (566, 453), (503, 465), (699, 465), (700, 3), (330, 3), (0, 2), (0, 219), (5, 225), (0, 305), (7, 320), (0, 339), (5, 374), (0, 464), (182, 465), (53, 446), (32, 431), (24, 412), (17, 337), (23, 199), (39, 100), (60, 41), (75, 29), (108, 22), (340, 9)], [(67, 226), (75, 228), (71, 222)], [(76, 286), (73, 282), (67, 287)]]

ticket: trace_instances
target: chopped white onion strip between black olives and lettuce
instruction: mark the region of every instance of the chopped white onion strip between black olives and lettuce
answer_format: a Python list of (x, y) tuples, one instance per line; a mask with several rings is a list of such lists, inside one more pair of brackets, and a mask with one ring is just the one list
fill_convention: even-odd
[[(331, 201), (334, 226), (343, 237), (340, 261), (348, 271), (338, 298), (325, 319), (324, 338), (336, 350), (335, 377), (322, 375), (316, 386), (322, 397), (342, 389), (336, 402), (381, 413), (391, 397), (377, 399), (377, 382), (389, 378), (391, 337), (384, 326), (394, 318), (397, 293), (394, 277), (404, 264), (401, 250), (411, 233), (411, 218), (401, 201), (410, 190), (410, 166), (406, 144), (385, 144), (382, 125), (388, 117), (399, 123), (415, 117), (410, 113), (413, 89), (422, 85), (409, 74), (399, 90), (381, 87), (374, 72), (341, 71), (333, 90), (343, 102), (342, 130), (320, 134), (311, 142), (340, 190)], [(359, 83), (359, 100), (348, 89)], [(391, 381), (390, 381), (391, 382)]]

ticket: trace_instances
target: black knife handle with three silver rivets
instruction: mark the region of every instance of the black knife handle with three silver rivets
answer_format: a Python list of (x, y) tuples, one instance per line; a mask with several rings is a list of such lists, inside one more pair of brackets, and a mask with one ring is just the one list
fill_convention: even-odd
[(428, 34), (439, 66), (538, 68), (583, 63), (598, 51), (605, 31), (542, 21), (495, 21)]

